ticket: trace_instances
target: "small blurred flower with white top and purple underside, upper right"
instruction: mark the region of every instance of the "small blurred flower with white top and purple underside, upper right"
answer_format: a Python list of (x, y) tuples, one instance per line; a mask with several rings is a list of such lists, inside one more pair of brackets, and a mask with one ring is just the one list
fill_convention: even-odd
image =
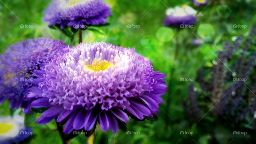
[(163, 22), (165, 26), (179, 27), (180, 25), (191, 25), (197, 21), (195, 18), (196, 10), (190, 6), (183, 5), (166, 11), (167, 17)]

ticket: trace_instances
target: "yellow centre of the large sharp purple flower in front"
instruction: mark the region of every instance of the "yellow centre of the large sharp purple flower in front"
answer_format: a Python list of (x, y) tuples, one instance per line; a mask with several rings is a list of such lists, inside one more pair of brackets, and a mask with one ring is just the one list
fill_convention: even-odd
[(95, 58), (93, 60), (93, 62), (91, 63), (91, 65), (86, 65), (85, 69), (89, 69), (91, 71), (104, 71), (107, 70), (108, 67), (111, 67), (111, 69), (113, 68), (113, 63), (103, 60), (101, 61), (101, 58)]

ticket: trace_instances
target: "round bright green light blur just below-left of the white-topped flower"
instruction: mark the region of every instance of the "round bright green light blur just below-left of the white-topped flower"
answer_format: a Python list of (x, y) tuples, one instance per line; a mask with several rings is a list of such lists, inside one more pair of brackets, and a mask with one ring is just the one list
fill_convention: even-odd
[(169, 42), (173, 38), (173, 30), (169, 27), (161, 27), (157, 30), (157, 38), (163, 42)]

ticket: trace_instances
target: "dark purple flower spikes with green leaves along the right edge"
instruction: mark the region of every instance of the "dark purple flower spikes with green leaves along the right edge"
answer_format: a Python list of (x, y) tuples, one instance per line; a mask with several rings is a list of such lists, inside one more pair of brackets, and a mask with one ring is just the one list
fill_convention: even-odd
[[(204, 70), (198, 71), (197, 82), (203, 95), (202, 101), (210, 105), (214, 117), (225, 117), (227, 121), (235, 123), (246, 122), (246, 118), (254, 121), (256, 111), (256, 77), (255, 73), (255, 41), (252, 37), (256, 34), (254, 26), (249, 36), (239, 35), (233, 41), (223, 44), (223, 50), (218, 51), (218, 58), (214, 60), (211, 68), (211, 77), (205, 81)], [(189, 87), (189, 103), (183, 101), (186, 115), (195, 121), (200, 118), (198, 107), (199, 99), (193, 85)], [(206, 110), (207, 112), (208, 110)], [(254, 121), (256, 126), (256, 122)]]

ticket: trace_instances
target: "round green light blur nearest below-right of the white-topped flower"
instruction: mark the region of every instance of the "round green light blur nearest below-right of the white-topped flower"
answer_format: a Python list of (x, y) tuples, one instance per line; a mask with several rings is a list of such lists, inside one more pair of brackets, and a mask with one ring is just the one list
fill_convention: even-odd
[(211, 26), (210, 24), (201, 24), (198, 27), (197, 33), (202, 38), (210, 39), (210, 38), (213, 38), (215, 34), (215, 30), (213, 26)]

